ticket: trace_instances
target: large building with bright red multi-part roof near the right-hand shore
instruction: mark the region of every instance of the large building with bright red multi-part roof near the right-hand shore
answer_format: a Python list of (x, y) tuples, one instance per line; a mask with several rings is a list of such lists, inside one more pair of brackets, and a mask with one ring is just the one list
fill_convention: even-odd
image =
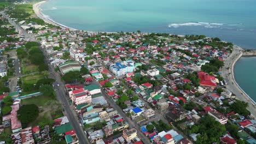
[(203, 71), (199, 71), (197, 74), (199, 76), (201, 86), (210, 87), (212, 89), (217, 87), (215, 76), (207, 75)]

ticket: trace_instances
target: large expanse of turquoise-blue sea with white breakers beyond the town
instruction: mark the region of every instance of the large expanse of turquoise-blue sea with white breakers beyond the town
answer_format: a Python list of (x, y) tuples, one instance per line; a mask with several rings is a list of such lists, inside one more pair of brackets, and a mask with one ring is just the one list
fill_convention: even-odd
[(256, 49), (255, 0), (50, 0), (43, 14), (87, 31), (205, 34)]

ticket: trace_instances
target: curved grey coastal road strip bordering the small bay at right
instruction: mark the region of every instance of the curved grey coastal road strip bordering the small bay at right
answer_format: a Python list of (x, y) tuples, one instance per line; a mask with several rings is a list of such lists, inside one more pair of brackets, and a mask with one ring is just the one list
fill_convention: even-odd
[[(236, 95), (236, 98), (239, 100), (243, 100), (248, 102), (248, 110), (252, 113), (252, 115), (256, 116), (256, 110), (254, 107), (254, 103), (250, 100), (247, 95), (236, 85), (234, 81), (234, 74), (232, 73), (232, 64), (235, 59), (237, 59), (242, 53), (241, 47), (234, 46), (233, 52), (231, 55), (225, 59), (224, 67), (222, 68), (222, 76), (228, 82), (226, 88), (228, 88), (232, 93)], [(234, 66), (234, 65), (233, 65)]]

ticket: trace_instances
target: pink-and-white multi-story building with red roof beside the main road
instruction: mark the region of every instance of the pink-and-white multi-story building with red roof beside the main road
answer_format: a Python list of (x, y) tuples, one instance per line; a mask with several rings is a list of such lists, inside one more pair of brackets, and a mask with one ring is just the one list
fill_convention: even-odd
[(91, 103), (91, 94), (88, 90), (84, 88), (75, 89), (69, 92), (69, 97), (73, 101), (75, 105), (83, 104), (83, 103)]

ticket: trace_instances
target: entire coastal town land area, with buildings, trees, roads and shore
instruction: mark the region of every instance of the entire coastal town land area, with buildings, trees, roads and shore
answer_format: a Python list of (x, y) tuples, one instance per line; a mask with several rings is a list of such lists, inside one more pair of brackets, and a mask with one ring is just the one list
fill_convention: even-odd
[(256, 143), (240, 47), (67, 28), (40, 3), (0, 2), (0, 143)]

